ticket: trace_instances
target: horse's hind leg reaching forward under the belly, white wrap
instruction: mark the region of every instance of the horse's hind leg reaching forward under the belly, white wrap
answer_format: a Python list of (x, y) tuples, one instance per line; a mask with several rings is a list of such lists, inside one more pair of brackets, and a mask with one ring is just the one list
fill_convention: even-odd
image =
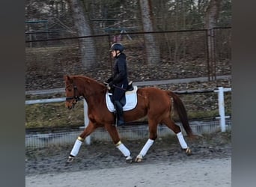
[(135, 159), (135, 162), (141, 162), (143, 157), (147, 154), (147, 151), (150, 149), (150, 147), (153, 145), (153, 142), (156, 140), (157, 138), (157, 122), (154, 120), (148, 120), (148, 124), (149, 124), (149, 132), (150, 132), (150, 136), (146, 142), (146, 144), (144, 144), (144, 147), (142, 148), (141, 152), (138, 154), (138, 156)]

